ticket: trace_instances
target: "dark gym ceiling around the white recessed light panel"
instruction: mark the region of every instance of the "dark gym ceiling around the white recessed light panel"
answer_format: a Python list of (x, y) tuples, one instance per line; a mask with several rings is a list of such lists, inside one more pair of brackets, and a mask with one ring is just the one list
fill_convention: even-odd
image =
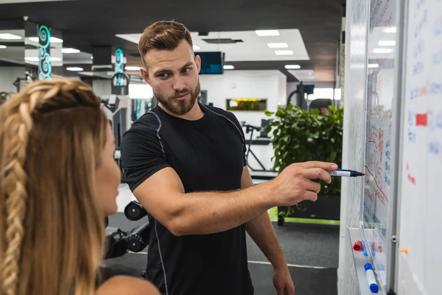
[[(324, 82), (335, 80), (336, 53), (345, 0), (73, 0), (0, 4), (0, 20), (23, 19), (63, 32), (65, 47), (90, 52), (92, 46), (122, 46), (126, 57), (137, 45), (115, 34), (141, 33), (150, 23), (175, 19), (191, 31), (299, 29), (309, 61), (293, 61), (314, 69)], [(137, 62), (129, 58), (128, 64)], [(236, 69), (280, 69), (290, 61), (236, 62)]]

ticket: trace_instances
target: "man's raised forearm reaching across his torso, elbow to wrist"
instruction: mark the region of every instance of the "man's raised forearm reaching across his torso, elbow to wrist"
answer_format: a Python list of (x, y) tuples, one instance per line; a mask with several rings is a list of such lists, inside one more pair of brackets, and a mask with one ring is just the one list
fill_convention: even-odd
[(264, 183), (234, 192), (180, 194), (166, 226), (175, 235), (230, 230), (266, 213), (274, 193), (271, 183)]

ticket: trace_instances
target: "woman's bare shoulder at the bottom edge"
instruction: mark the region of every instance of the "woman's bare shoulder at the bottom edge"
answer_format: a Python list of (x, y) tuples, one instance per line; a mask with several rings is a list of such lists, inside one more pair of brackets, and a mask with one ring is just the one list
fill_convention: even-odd
[(160, 295), (160, 292), (147, 280), (113, 276), (98, 288), (96, 295)]

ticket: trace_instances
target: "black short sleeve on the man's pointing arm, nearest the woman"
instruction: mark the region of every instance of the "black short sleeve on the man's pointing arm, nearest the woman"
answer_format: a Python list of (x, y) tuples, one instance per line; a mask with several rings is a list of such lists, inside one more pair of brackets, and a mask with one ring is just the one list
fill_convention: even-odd
[(123, 181), (133, 191), (150, 176), (171, 165), (156, 130), (131, 128), (122, 138), (121, 158)]

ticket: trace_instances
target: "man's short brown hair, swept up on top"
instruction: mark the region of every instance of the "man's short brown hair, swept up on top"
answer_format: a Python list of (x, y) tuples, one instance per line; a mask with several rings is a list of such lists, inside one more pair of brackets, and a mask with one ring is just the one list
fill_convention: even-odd
[(143, 64), (145, 64), (144, 57), (149, 50), (174, 50), (183, 40), (193, 46), (191, 32), (182, 23), (173, 20), (152, 23), (144, 30), (138, 42), (138, 51)]

